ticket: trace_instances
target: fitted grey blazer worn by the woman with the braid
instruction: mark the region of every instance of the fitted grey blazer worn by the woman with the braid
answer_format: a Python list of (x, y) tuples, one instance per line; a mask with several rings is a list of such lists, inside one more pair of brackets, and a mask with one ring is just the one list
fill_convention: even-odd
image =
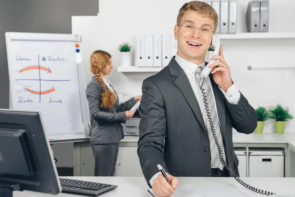
[(92, 76), (91, 81), (89, 82), (86, 89), (86, 95), (89, 103), (89, 112), (91, 118), (93, 119), (90, 132), (90, 143), (118, 143), (122, 138), (124, 138), (121, 123), (126, 123), (125, 111), (131, 109), (136, 101), (134, 98), (132, 98), (124, 103), (119, 104), (117, 96), (116, 104), (114, 104), (113, 110), (103, 109), (100, 107), (100, 95), (102, 93), (102, 86), (98, 83), (95, 76)]

